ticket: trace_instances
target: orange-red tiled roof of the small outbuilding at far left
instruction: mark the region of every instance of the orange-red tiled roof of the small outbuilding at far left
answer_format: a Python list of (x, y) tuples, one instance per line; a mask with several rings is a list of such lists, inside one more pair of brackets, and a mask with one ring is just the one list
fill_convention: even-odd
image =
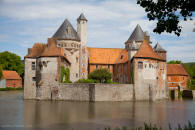
[(16, 71), (3, 70), (2, 74), (4, 79), (22, 79)]

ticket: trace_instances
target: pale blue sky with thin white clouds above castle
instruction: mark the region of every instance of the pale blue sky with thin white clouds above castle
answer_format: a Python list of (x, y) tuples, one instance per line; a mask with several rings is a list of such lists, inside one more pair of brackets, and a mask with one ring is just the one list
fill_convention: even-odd
[[(76, 19), (84, 13), (87, 45), (124, 48), (137, 24), (148, 31), (152, 46), (157, 42), (167, 50), (167, 59), (195, 62), (195, 20), (181, 21), (181, 36), (154, 33), (136, 0), (0, 0), (0, 52), (23, 57), (34, 43), (46, 43), (67, 18), (77, 29)], [(195, 19), (193, 15), (193, 19)]]

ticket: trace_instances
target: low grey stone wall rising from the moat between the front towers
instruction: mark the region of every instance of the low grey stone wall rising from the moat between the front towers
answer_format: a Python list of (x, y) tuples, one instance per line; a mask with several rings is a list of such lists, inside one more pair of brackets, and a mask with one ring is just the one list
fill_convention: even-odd
[(37, 89), (39, 100), (68, 101), (132, 101), (132, 84), (59, 84), (58, 87)]

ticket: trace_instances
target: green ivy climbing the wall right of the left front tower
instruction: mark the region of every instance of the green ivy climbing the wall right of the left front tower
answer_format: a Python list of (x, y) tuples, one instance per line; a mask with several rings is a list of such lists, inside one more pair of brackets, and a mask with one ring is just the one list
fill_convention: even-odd
[[(65, 76), (65, 80), (64, 80)], [(69, 68), (65, 68), (64, 66), (61, 66), (61, 78), (60, 78), (61, 83), (71, 83), (70, 81), (70, 70)]]

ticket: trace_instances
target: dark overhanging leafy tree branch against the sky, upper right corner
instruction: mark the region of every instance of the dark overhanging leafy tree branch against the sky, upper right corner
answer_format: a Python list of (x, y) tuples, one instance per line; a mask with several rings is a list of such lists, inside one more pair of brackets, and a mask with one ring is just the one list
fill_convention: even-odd
[(153, 32), (172, 33), (180, 36), (181, 26), (179, 20), (192, 20), (195, 11), (195, 0), (137, 0), (137, 4), (145, 8), (148, 19), (157, 20)]

